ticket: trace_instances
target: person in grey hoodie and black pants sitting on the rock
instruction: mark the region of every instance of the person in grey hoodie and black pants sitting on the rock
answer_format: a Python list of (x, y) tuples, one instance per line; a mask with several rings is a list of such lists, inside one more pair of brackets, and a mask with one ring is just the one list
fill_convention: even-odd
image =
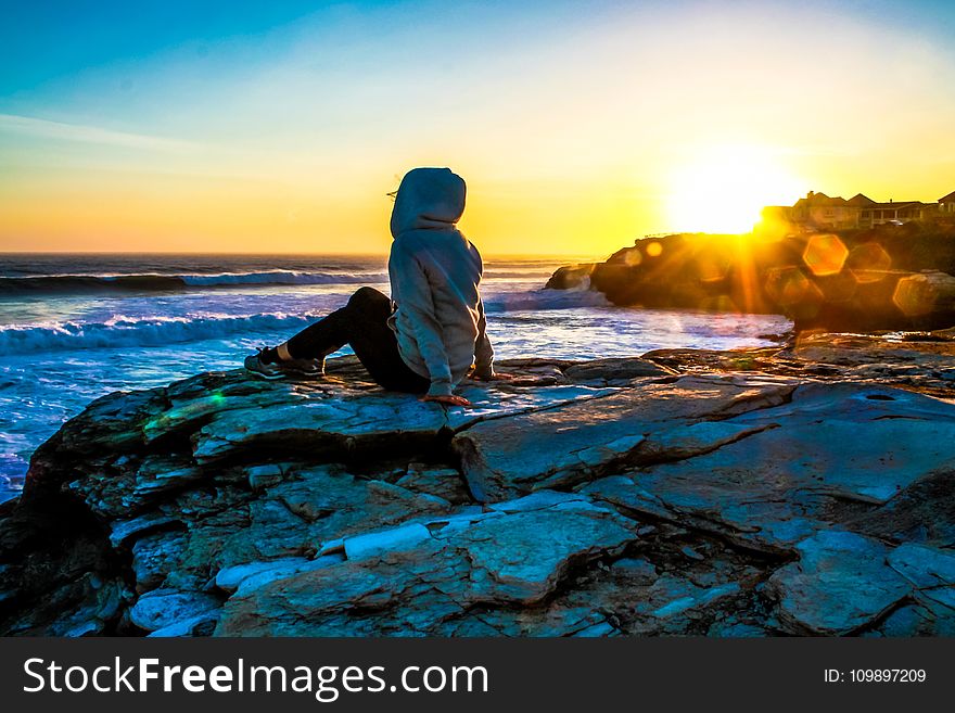
[(478, 290), (481, 255), (456, 227), (464, 194), (463, 179), (448, 168), (409, 171), (392, 211), (391, 300), (360, 288), (341, 309), (247, 357), (245, 368), (265, 379), (320, 375), (324, 357), (348, 344), (384, 389), (470, 406), (455, 386), (472, 365), (475, 379), (495, 373)]

